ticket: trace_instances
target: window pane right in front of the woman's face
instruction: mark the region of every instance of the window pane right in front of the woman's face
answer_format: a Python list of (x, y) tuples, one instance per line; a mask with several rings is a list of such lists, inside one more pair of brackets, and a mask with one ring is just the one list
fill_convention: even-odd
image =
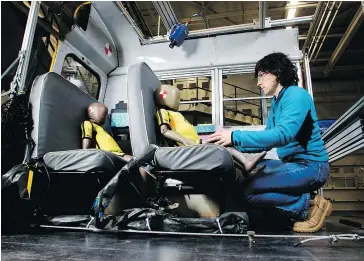
[(223, 75), (224, 125), (263, 125), (270, 100), (261, 99), (254, 73)]

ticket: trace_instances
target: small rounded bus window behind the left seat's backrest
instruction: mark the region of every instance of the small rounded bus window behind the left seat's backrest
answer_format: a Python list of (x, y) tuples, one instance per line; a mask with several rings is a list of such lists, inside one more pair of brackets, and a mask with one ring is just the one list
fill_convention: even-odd
[(62, 65), (61, 75), (88, 95), (96, 100), (98, 99), (100, 78), (87, 66), (84, 66), (74, 55), (66, 56)]

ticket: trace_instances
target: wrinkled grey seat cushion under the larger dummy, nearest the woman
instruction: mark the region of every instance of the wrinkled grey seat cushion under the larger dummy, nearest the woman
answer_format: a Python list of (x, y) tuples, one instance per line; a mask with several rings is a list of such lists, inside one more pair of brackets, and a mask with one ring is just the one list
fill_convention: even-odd
[(158, 148), (154, 160), (156, 167), (172, 171), (232, 172), (230, 153), (218, 145)]

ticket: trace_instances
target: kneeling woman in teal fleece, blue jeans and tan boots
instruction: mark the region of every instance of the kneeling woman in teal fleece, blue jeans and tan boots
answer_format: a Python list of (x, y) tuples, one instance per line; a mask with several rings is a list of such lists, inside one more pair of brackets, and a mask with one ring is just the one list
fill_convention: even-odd
[(247, 153), (277, 148), (280, 160), (265, 160), (266, 168), (241, 184), (240, 197), (251, 208), (303, 221), (294, 224), (296, 232), (318, 231), (332, 204), (322, 196), (310, 200), (310, 193), (325, 184), (329, 173), (312, 97), (297, 86), (297, 68), (282, 53), (261, 59), (255, 76), (264, 94), (273, 96), (265, 130), (216, 132), (208, 141)]

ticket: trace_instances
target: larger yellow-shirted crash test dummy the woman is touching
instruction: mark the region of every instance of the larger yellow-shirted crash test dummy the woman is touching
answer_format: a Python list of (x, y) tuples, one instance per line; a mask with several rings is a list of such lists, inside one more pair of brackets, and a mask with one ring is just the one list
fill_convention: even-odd
[[(206, 144), (199, 138), (196, 129), (186, 118), (178, 112), (180, 106), (180, 91), (171, 85), (161, 85), (155, 91), (155, 103), (157, 106), (156, 118), (161, 134), (169, 141), (175, 142), (177, 146), (191, 146)], [(249, 177), (251, 171), (263, 159), (266, 152), (261, 152), (252, 160), (247, 159), (243, 153), (234, 147), (226, 148), (232, 155), (235, 166), (242, 171), (245, 178)], [(264, 166), (261, 166), (263, 168)], [(237, 179), (244, 178), (238, 177)]]

